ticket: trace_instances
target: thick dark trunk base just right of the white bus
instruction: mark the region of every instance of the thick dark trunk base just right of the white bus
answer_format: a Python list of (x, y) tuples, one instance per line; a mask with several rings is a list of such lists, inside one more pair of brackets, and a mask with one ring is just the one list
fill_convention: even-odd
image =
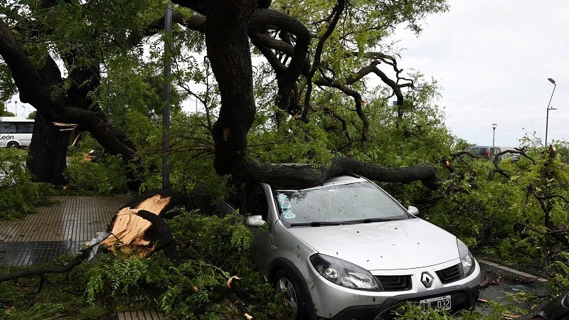
[(69, 144), (69, 132), (60, 132), (43, 115), (36, 114), (33, 126), (33, 138), (28, 152), (26, 166), (33, 174), (34, 181), (47, 182), (54, 186), (66, 183), (63, 178)]

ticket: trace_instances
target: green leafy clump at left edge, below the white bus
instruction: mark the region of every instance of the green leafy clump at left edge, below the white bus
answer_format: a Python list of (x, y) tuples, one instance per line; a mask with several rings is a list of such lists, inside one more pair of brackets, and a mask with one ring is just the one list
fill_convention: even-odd
[(26, 151), (0, 149), (0, 219), (21, 218), (36, 206), (53, 203), (55, 194), (47, 183), (32, 182), (25, 166)]

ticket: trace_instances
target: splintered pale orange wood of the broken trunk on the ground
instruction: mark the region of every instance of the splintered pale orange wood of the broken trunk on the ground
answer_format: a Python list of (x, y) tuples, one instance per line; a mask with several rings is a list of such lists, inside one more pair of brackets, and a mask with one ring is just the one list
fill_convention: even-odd
[(144, 255), (154, 249), (154, 246), (150, 245), (150, 241), (144, 239), (144, 233), (150, 228), (151, 223), (140, 218), (138, 212), (139, 210), (147, 210), (155, 215), (159, 215), (168, 203), (170, 203), (169, 196), (163, 197), (156, 194), (142, 201), (134, 208), (122, 208), (115, 216), (111, 234), (101, 243), (110, 250), (119, 248), (123, 252), (132, 252), (136, 249), (137, 253), (144, 257)]

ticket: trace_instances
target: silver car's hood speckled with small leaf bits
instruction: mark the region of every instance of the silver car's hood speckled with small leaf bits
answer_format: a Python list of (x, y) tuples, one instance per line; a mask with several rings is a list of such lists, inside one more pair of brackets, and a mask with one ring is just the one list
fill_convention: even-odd
[(427, 267), (459, 257), (454, 235), (419, 218), (289, 231), (323, 255), (370, 271)]

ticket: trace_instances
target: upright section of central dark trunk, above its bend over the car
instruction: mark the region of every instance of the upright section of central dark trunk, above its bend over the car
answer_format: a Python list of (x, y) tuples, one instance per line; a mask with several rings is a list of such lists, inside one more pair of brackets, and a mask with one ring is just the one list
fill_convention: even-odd
[(218, 80), (222, 105), (213, 125), (213, 166), (218, 174), (230, 174), (235, 159), (244, 156), (247, 133), (255, 119), (247, 29), (256, 5), (256, 0), (211, 1), (206, 19), (208, 58)]

